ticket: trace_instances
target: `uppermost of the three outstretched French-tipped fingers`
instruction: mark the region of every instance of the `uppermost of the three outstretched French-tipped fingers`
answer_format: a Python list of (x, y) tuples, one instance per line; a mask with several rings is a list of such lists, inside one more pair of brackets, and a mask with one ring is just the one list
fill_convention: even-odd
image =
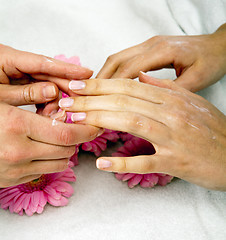
[[(154, 103), (163, 103), (168, 91), (131, 79), (89, 79), (71, 81), (69, 88), (78, 95), (125, 94)], [(66, 100), (64, 100), (66, 101)]]

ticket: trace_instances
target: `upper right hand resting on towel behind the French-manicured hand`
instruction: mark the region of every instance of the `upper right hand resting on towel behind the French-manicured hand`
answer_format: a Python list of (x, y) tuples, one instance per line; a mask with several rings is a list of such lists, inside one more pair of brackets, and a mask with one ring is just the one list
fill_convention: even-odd
[(180, 86), (199, 91), (226, 74), (226, 24), (200, 36), (156, 36), (111, 55), (98, 78), (136, 78), (139, 71), (176, 70)]

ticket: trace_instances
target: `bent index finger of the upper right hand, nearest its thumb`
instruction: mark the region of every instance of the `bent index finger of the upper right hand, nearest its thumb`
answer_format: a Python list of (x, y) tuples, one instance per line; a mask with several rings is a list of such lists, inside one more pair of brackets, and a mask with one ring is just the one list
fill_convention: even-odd
[(173, 54), (167, 48), (150, 49), (123, 62), (111, 78), (136, 78), (139, 71), (158, 70), (173, 63)]

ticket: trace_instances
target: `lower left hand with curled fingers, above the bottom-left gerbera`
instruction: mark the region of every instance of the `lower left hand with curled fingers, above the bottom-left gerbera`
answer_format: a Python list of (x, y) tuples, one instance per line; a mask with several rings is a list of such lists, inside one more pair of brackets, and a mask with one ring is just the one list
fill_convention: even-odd
[[(0, 188), (65, 170), (75, 144), (101, 134), (92, 126), (60, 121), (53, 126), (50, 118), (5, 103), (0, 109)], [(62, 114), (58, 113), (59, 120)]]

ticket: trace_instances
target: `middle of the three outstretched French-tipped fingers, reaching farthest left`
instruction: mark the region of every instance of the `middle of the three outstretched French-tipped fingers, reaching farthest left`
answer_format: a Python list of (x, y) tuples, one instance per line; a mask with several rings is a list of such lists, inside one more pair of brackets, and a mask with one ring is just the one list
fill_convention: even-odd
[[(72, 98), (71, 98), (72, 99)], [(60, 106), (67, 106), (71, 99), (61, 99)], [(117, 112), (135, 112), (147, 118), (163, 123), (166, 119), (165, 105), (155, 104), (135, 97), (123, 94), (85, 96), (72, 99), (73, 105), (66, 108), (69, 112), (87, 112), (87, 111), (117, 111)]]

